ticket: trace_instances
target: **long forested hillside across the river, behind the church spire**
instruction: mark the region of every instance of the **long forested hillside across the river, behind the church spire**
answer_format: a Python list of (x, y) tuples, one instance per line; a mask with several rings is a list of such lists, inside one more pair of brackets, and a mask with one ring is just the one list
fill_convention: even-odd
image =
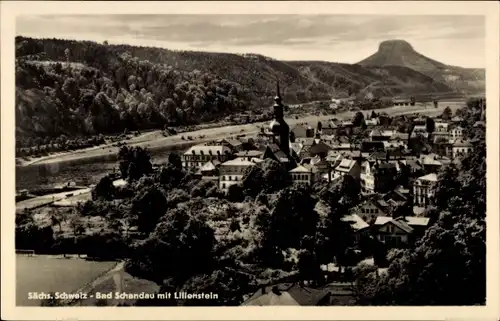
[(450, 91), (404, 67), (17, 37), (16, 137), (91, 136), (229, 114), (260, 116), (269, 111), (276, 79), (287, 103)]

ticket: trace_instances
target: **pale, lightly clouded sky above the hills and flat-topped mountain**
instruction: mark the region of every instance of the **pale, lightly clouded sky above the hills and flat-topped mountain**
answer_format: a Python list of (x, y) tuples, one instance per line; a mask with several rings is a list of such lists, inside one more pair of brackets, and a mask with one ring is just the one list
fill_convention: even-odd
[(24, 15), (16, 34), (343, 63), (370, 56), (381, 41), (402, 39), (445, 64), (486, 65), (479, 15)]

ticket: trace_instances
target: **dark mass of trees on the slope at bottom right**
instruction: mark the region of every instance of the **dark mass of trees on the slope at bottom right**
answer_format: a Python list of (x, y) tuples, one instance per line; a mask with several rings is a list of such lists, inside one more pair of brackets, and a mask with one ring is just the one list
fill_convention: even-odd
[[(366, 279), (364, 301), (377, 305), (477, 305), (486, 298), (486, 152), (439, 177), (435, 223), (414, 249), (389, 255), (387, 275)], [(445, 190), (445, 187), (448, 190)], [(429, 214), (428, 214), (429, 215)]]

